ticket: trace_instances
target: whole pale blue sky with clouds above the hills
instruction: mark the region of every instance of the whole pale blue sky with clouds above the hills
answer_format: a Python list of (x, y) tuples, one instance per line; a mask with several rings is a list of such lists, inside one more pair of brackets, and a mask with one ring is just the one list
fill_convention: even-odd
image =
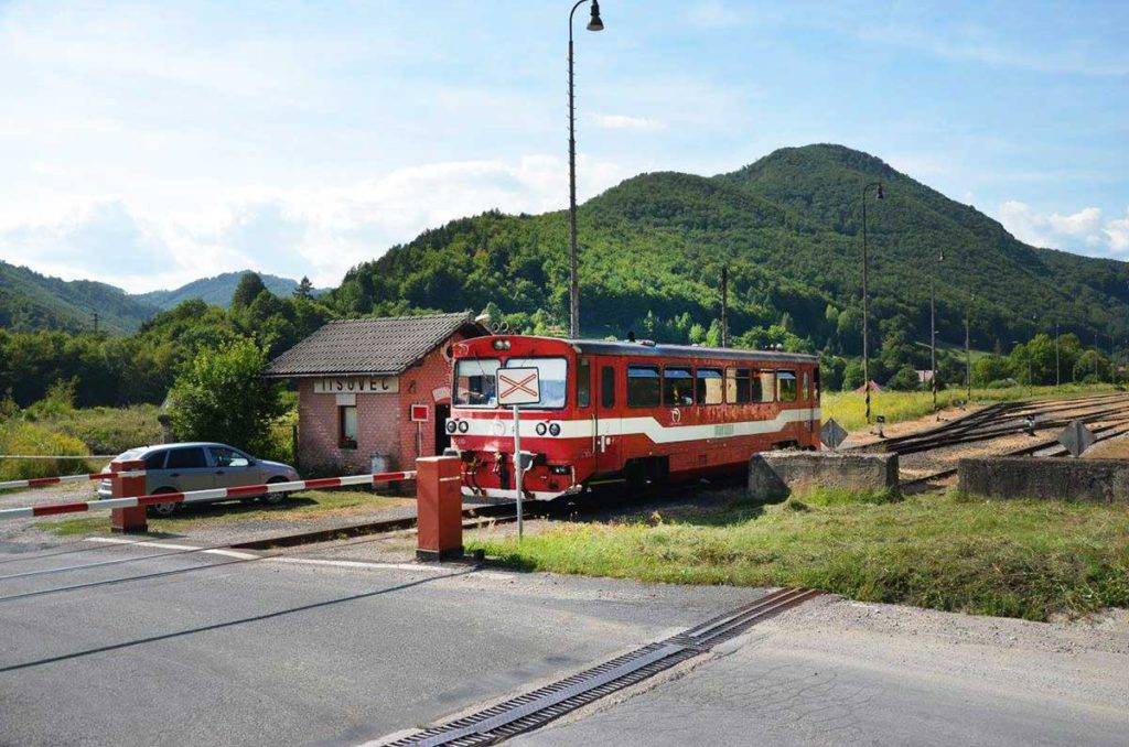
[[(327, 285), (452, 218), (561, 209), (569, 7), (0, 0), (0, 258)], [(581, 197), (838, 142), (1024, 240), (1129, 258), (1129, 3), (583, 12)]]

